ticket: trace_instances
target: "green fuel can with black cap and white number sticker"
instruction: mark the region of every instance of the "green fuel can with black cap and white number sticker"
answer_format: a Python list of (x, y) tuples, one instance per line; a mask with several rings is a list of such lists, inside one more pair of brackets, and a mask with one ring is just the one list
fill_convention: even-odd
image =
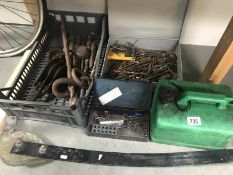
[(205, 149), (233, 143), (233, 96), (228, 86), (160, 80), (150, 110), (153, 142)]

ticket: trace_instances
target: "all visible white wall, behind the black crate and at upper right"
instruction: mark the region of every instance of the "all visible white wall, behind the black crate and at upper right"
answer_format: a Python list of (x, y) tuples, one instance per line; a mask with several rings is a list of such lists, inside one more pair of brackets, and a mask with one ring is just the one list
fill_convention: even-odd
[[(103, 13), (105, 1), (47, 0), (47, 3), (53, 10)], [(216, 46), (232, 15), (233, 0), (190, 0), (181, 44)]]

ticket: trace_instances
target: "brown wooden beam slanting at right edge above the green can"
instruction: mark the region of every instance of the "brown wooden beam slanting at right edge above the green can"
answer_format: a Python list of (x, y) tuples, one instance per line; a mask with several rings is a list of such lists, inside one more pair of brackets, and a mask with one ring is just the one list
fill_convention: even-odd
[(233, 17), (208, 61), (202, 82), (220, 83), (233, 66)]

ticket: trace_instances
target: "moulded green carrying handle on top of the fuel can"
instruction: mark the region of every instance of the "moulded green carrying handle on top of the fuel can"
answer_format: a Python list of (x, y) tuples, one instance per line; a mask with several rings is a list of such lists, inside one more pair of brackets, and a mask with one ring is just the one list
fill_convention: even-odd
[(233, 98), (226, 97), (223, 94), (192, 91), (182, 93), (181, 97), (177, 100), (177, 104), (181, 106), (188, 106), (191, 101), (215, 104), (219, 109), (226, 109), (228, 104), (233, 104)]

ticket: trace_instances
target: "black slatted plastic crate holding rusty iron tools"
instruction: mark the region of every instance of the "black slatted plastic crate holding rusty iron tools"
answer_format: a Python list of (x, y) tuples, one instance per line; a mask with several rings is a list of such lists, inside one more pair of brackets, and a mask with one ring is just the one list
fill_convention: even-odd
[(96, 54), (97, 71), (94, 75), (97, 76), (104, 59), (103, 43), (107, 39), (105, 15), (65, 11), (47, 12), (43, 30), (12, 87), (0, 89), (0, 107), (8, 115), (17, 116), (18, 119), (46, 121), (73, 127), (86, 126), (92, 99), (91, 93), (88, 98), (79, 102), (76, 110), (70, 109), (69, 99), (56, 97), (50, 101), (45, 101), (43, 98), (31, 101), (31, 95), (36, 78), (48, 62), (46, 58), (48, 51), (51, 48), (62, 47), (60, 15), (65, 16), (69, 33), (82, 37), (91, 34), (99, 44)]

